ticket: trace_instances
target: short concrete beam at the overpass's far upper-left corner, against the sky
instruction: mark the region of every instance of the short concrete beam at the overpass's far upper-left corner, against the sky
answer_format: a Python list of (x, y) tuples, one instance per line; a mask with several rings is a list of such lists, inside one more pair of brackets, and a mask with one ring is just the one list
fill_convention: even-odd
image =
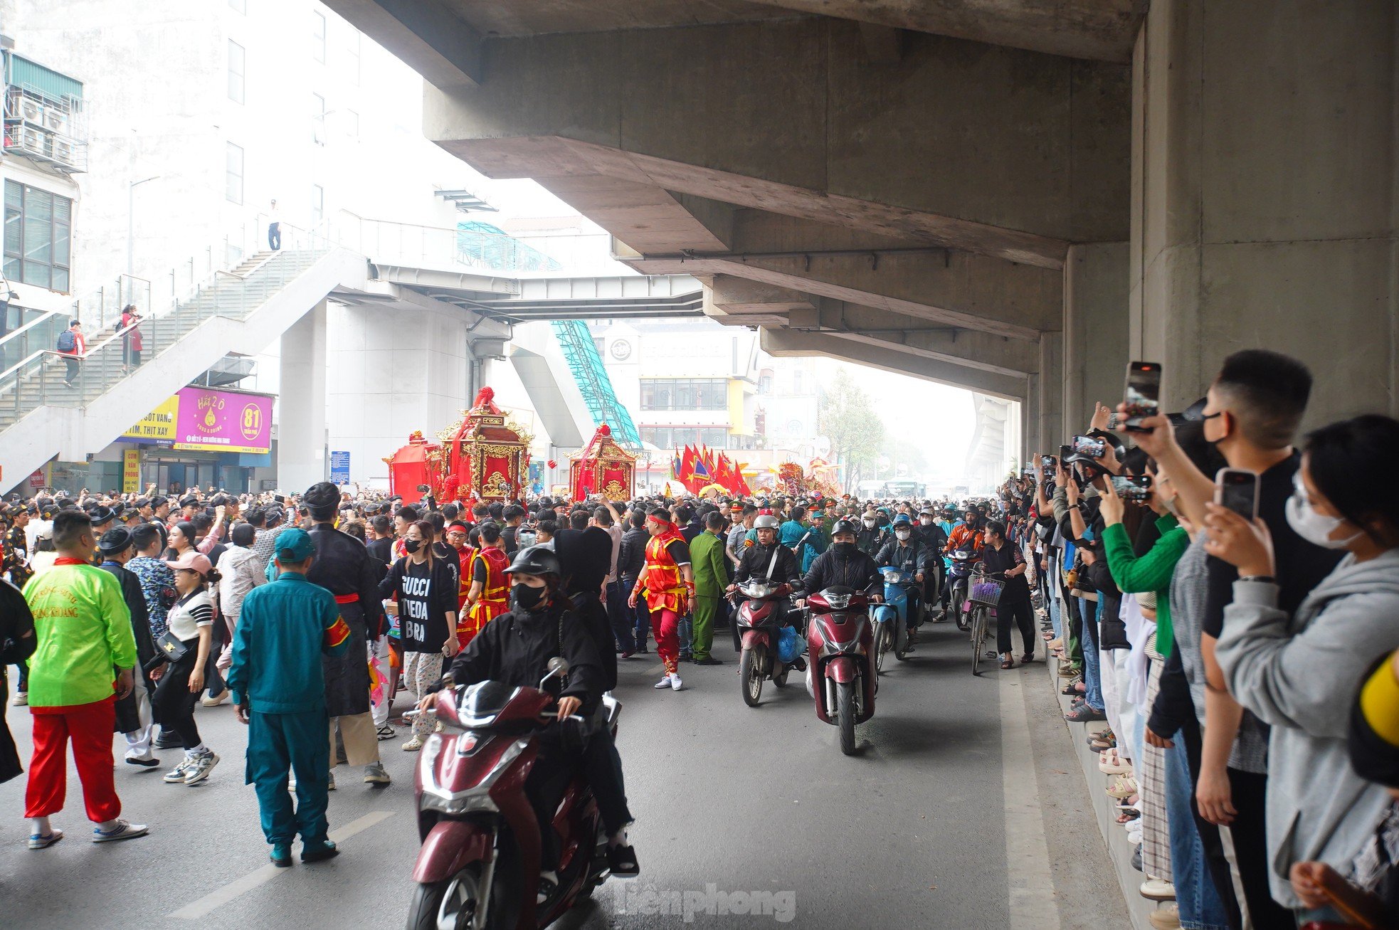
[(481, 81), (481, 35), (441, 0), (326, 0), (434, 87)]

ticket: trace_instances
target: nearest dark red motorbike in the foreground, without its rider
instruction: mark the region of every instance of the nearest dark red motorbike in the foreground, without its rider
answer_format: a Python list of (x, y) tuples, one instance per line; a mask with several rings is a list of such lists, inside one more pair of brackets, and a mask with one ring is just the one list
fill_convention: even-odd
[[(413, 782), (422, 847), (413, 868), (409, 930), (536, 930), (607, 880), (597, 803), (575, 776), (553, 824), (543, 825), (557, 831), (561, 852), (558, 885), (537, 901), (540, 824), (525, 779), (539, 755), (540, 729), (557, 726), (550, 722), (555, 713), (546, 710), (554, 698), (543, 688), (565, 674), (568, 661), (551, 659), (539, 688), (483, 681), (438, 694), (442, 731), (420, 751)], [(600, 713), (614, 733), (620, 709), (603, 698)]]

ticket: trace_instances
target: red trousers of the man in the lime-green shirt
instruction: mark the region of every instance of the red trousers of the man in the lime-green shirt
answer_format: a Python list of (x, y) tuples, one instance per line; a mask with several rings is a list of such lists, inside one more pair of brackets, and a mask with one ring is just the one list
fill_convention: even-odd
[(112, 780), (112, 729), (116, 698), (67, 708), (29, 708), (34, 715), (34, 759), (24, 793), (25, 817), (63, 810), (69, 787), (69, 740), (83, 782), (83, 801), (95, 824), (116, 820), (122, 801)]

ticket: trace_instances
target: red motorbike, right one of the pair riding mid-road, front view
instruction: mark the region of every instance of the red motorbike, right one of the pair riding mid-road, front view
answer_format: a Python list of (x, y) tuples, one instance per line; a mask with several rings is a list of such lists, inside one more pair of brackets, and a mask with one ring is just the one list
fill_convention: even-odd
[(839, 730), (845, 755), (855, 754), (855, 724), (874, 716), (879, 677), (870, 664), (874, 631), (869, 604), (865, 592), (838, 585), (806, 597), (811, 613), (806, 687), (816, 699), (816, 716)]

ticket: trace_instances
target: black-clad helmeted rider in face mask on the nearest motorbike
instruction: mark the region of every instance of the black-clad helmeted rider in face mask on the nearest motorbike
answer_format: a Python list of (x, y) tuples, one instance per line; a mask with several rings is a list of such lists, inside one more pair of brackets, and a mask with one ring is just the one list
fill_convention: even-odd
[[(553, 829), (554, 811), (575, 769), (593, 789), (597, 810), (607, 829), (607, 860), (614, 874), (635, 875), (637, 854), (627, 843), (627, 825), (632, 821), (621, 776), (621, 758), (607, 727), (586, 727), (581, 734), (565, 727), (565, 720), (579, 715), (585, 720), (597, 712), (604, 691), (603, 663), (586, 625), (574, 613), (564, 594), (558, 555), (543, 545), (519, 550), (505, 569), (511, 580), (509, 610), (481, 628), (467, 643), (431, 694), (418, 702), (428, 710), (436, 703), (436, 691), (481, 681), (498, 681), (516, 688), (537, 688), (548, 673), (548, 661), (562, 656), (568, 661), (567, 681), (555, 695), (558, 717), (539, 734), (539, 761), (530, 769), (525, 792), (534, 807), (541, 829), (541, 884), (557, 884), (560, 840)], [(581, 738), (582, 748), (574, 748)]]

